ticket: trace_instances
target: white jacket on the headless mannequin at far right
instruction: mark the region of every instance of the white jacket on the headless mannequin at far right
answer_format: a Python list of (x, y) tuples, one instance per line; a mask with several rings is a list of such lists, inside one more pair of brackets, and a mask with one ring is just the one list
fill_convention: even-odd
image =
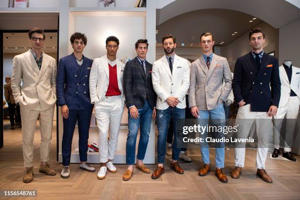
[(285, 72), (283, 65), (279, 67), (279, 77), (281, 81), (281, 95), (279, 101), (279, 107), (284, 107), (289, 102), (290, 91), (293, 90), (300, 99), (300, 68), (292, 66), (292, 78), (291, 84), (289, 78)]

